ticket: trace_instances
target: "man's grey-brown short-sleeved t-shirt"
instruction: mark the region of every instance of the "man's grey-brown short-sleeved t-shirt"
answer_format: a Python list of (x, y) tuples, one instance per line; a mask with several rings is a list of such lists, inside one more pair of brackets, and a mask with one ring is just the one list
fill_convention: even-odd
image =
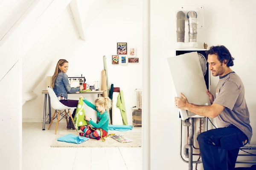
[(244, 84), (235, 72), (219, 77), (213, 103), (225, 107), (216, 117), (217, 126), (227, 127), (233, 124), (247, 135), (250, 142), (253, 131), (244, 98)]

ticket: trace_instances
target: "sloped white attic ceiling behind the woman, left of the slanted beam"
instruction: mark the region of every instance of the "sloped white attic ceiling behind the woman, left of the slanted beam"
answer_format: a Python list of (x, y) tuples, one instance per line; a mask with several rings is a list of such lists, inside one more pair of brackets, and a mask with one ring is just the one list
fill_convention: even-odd
[(23, 101), (37, 97), (33, 90), (55, 68), (56, 61), (79, 38), (70, 7), (56, 18), (54, 23), (38, 38), (23, 56)]

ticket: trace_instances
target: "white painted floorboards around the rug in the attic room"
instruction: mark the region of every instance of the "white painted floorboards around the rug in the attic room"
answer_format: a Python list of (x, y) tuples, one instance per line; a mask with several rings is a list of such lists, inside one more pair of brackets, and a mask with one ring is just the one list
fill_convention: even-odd
[[(48, 126), (23, 123), (22, 170), (142, 170), (142, 147), (50, 147), (56, 124)], [(66, 126), (60, 123), (57, 134)]]

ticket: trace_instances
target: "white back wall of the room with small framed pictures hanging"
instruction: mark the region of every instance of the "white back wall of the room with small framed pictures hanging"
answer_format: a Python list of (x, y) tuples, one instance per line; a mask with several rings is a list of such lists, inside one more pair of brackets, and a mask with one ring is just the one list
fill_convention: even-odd
[[(114, 87), (124, 92), (128, 124), (132, 124), (131, 107), (136, 106), (136, 88), (142, 87), (142, 2), (111, 1), (86, 30), (86, 42), (77, 41), (64, 58), (69, 61), (68, 76), (83, 75), (88, 84), (101, 81), (104, 69), (103, 55), (107, 58), (108, 80)], [(113, 65), (112, 55), (116, 55), (116, 43), (127, 42), (128, 47), (137, 47), (139, 63)], [(81, 62), (78, 62), (78, 60)], [(73, 69), (74, 63), (76, 69)], [(51, 75), (52, 72), (49, 73)], [(74, 98), (76, 99), (76, 98)], [(95, 96), (88, 96), (92, 103)], [(85, 107), (85, 112), (96, 119), (94, 111)]]

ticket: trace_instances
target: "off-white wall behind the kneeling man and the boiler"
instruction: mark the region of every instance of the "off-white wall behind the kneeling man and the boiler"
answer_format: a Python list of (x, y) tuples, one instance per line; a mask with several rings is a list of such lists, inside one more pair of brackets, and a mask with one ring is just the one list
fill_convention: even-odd
[[(203, 43), (226, 46), (235, 58), (232, 69), (241, 77), (245, 86), (245, 97), (250, 111), (250, 121), (256, 130), (256, 110), (254, 88), (255, 71), (255, 0), (205, 1), (205, 0), (151, 0), (150, 1), (150, 124), (151, 128), (151, 170), (185, 170), (188, 164), (179, 157), (180, 120), (174, 107), (174, 87), (166, 58), (175, 55), (176, 26), (175, 11), (181, 6), (204, 6), (204, 28), (198, 29), (199, 48)], [(187, 32), (186, 32), (187, 34)], [(182, 69), (182, 68), (181, 68)], [(179, 70), (177, 70), (178, 72)], [(212, 78), (211, 91), (218, 78)], [(155, 90), (157, 87), (164, 92)], [(250, 145), (256, 144), (253, 135)], [(182, 148), (183, 151), (183, 148)], [(197, 158), (195, 158), (197, 159)], [(253, 158), (251, 158), (253, 159)], [(248, 160), (248, 159), (247, 159)], [(255, 159), (254, 159), (255, 160)], [(195, 168), (195, 164), (193, 164)], [(237, 166), (249, 166), (238, 164)], [(201, 164), (198, 170), (202, 170)]]

